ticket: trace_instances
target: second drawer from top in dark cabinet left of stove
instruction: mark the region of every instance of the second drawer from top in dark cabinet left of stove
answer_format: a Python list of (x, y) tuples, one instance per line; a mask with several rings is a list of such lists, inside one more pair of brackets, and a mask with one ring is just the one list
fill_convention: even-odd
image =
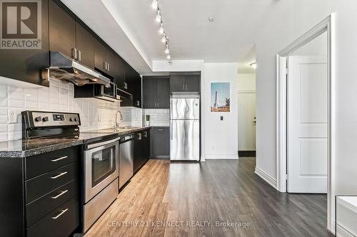
[(72, 163), (25, 181), (26, 204), (78, 178), (78, 163)]

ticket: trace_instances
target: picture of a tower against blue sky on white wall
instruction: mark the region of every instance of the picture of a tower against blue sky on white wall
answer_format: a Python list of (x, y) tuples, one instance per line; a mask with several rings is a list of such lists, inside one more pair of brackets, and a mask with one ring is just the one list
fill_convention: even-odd
[(211, 83), (211, 112), (230, 112), (229, 83)]

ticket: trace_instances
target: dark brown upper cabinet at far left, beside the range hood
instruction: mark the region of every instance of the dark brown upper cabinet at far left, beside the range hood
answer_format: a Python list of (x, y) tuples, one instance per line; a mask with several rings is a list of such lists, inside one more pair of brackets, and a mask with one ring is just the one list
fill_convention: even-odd
[(26, 83), (49, 86), (41, 72), (49, 67), (49, 1), (41, 3), (41, 48), (0, 49), (0, 76)]

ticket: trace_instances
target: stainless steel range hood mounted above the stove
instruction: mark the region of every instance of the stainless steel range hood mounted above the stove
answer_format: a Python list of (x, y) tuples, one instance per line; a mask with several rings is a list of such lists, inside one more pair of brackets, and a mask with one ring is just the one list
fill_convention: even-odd
[(50, 51), (50, 66), (46, 68), (44, 78), (68, 80), (74, 85), (101, 84), (109, 87), (111, 80), (85, 65), (58, 51)]

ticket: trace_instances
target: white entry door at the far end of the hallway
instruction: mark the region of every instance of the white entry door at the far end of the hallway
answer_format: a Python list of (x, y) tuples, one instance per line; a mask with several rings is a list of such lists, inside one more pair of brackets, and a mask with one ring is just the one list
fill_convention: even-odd
[(238, 150), (256, 150), (256, 93), (238, 93)]

